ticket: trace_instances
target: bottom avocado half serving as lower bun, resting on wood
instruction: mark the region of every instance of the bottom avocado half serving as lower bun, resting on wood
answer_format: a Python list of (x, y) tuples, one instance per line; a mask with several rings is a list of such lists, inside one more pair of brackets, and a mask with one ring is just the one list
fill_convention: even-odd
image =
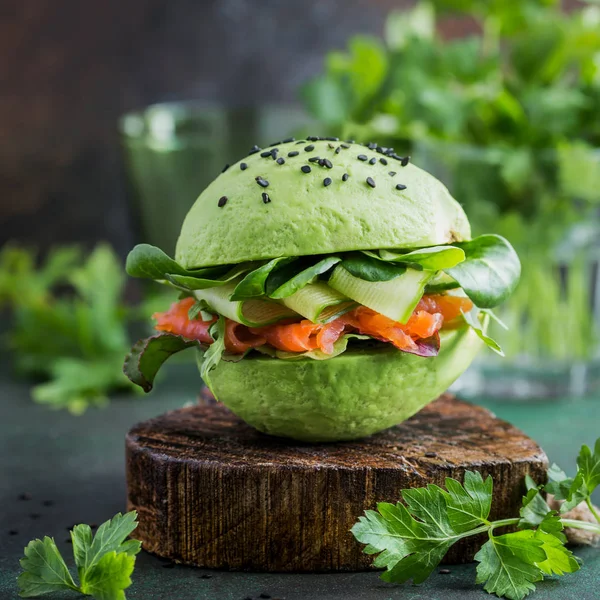
[(263, 433), (306, 442), (354, 440), (401, 423), (435, 400), (480, 347), (464, 327), (441, 333), (435, 358), (392, 346), (323, 361), (252, 356), (219, 362), (211, 384), (219, 401)]

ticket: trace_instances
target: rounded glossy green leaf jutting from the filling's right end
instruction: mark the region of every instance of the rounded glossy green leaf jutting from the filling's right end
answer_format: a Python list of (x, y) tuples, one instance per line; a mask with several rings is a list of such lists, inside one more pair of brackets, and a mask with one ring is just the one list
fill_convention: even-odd
[(482, 235), (456, 244), (465, 252), (465, 260), (446, 269), (465, 294), (479, 308), (493, 308), (515, 290), (521, 275), (521, 263), (514, 248), (499, 235)]

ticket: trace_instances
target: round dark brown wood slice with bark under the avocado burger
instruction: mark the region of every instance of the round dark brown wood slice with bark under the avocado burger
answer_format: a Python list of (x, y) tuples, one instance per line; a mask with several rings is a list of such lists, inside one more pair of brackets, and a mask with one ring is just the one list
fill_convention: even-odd
[[(541, 482), (548, 465), (521, 431), (449, 395), (355, 442), (270, 437), (223, 406), (198, 405), (136, 425), (126, 445), (128, 506), (146, 550), (256, 571), (368, 569), (349, 532), (363, 511), (465, 470), (494, 478), (492, 518), (517, 516), (524, 476)], [(446, 561), (472, 560), (481, 543), (461, 540)]]

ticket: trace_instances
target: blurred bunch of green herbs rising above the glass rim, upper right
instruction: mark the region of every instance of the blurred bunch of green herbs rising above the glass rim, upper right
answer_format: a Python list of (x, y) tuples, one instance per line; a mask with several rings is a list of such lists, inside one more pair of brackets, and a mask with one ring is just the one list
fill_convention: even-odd
[[(477, 33), (443, 39), (438, 20), (449, 15), (470, 17)], [(383, 41), (357, 36), (330, 52), (302, 93), (325, 124), (407, 144), (597, 146), (600, 7), (565, 14), (553, 0), (419, 2), (390, 14)]]

